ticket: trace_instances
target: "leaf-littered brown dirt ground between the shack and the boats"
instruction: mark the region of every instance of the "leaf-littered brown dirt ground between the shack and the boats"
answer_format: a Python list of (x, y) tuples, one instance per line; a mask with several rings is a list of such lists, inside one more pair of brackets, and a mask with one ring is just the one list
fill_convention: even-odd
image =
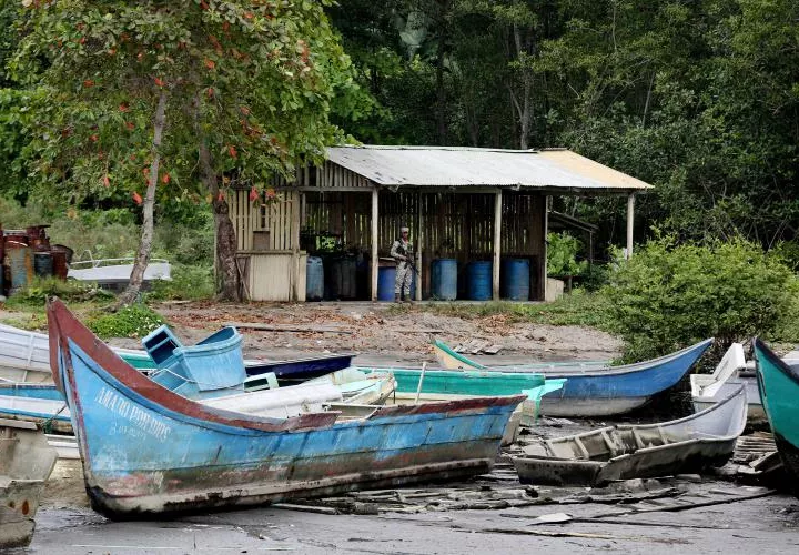
[[(154, 309), (189, 343), (230, 323), (301, 330), (241, 327), (247, 357), (283, 359), (314, 352), (352, 352), (357, 354), (356, 363), (362, 365), (393, 362), (419, 365), (434, 360), (433, 337), (449, 344), (478, 339), (502, 345), (496, 355), (475, 356), (494, 364), (608, 360), (621, 350), (621, 342), (613, 335), (587, 327), (513, 323), (504, 315), (464, 320), (433, 314), (418, 306), (397, 309), (391, 303), (163, 303)], [(139, 347), (136, 340), (114, 340), (112, 343)]]

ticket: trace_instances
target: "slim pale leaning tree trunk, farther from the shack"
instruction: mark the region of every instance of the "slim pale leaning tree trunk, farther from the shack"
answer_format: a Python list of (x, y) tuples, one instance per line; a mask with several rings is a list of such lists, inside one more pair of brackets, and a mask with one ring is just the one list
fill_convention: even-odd
[(133, 271), (131, 272), (128, 287), (120, 295), (117, 307), (133, 303), (139, 297), (142, 282), (144, 281), (144, 271), (150, 262), (150, 253), (152, 251), (153, 239), (153, 205), (155, 204), (155, 186), (158, 185), (159, 165), (161, 164), (161, 138), (166, 121), (166, 91), (161, 89), (159, 95), (158, 108), (155, 109), (155, 121), (152, 142), (152, 163), (150, 164), (150, 179), (148, 180), (146, 192), (144, 193), (142, 234), (139, 241), (139, 251), (133, 262)]

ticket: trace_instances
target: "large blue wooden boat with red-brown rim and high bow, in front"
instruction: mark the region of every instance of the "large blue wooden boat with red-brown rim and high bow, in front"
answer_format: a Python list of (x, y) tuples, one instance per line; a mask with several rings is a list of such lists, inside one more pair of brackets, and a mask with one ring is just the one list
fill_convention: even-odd
[(257, 417), (148, 380), (58, 300), (48, 303), (53, 379), (64, 392), (92, 506), (136, 517), (396, 486), (488, 471), (524, 395)]

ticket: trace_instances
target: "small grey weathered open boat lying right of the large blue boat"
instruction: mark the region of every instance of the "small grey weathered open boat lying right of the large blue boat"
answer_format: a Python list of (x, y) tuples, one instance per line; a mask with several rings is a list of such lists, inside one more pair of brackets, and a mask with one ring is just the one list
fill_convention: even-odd
[(699, 472), (725, 464), (747, 418), (742, 386), (685, 418), (603, 427), (536, 442), (514, 458), (524, 484), (603, 485), (611, 480)]

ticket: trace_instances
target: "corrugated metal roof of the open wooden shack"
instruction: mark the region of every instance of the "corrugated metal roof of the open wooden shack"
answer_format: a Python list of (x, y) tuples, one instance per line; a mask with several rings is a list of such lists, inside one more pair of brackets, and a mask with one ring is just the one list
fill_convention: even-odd
[(330, 160), (385, 186), (518, 186), (626, 192), (651, 185), (568, 150), (333, 147)]

